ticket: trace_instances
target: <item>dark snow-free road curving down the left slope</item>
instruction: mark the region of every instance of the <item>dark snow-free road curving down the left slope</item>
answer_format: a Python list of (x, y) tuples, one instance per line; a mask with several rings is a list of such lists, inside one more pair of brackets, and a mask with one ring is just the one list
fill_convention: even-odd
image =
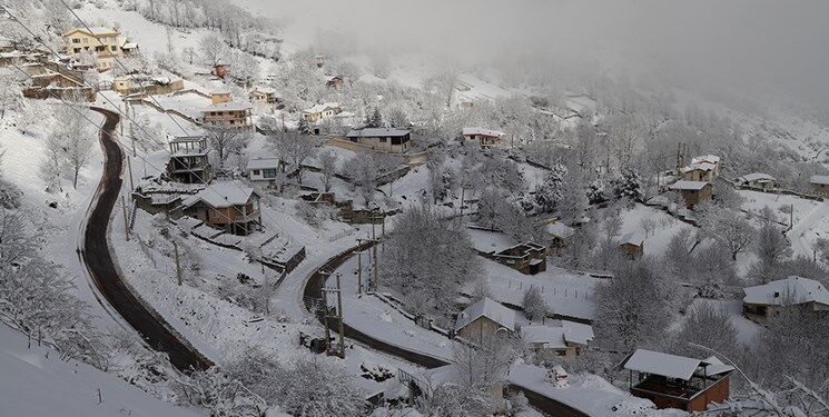
[(106, 158), (101, 182), (92, 197), (95, 206), (87, 216), (80, 257), (98, 291), (135, 328), (154, 349), (165, 351), (170, 363), (179, 370), (207, 369), (209, 359), (199, 354), (157, 312), (147, 308), (118, 275), (107, 242), (109, 216), (121, 190), (124, 153), (115, 140), (115, 128), (120, 120), (118, 113), (92, 108), (106, 118), (100, 131), (100, 143)]

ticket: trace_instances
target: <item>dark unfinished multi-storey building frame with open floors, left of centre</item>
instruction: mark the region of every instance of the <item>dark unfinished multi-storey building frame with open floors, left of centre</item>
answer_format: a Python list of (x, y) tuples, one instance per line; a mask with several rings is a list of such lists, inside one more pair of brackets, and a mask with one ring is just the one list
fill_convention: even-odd
[(184, 183), (206, 183), (211, 178), (206, 136), (180, 136), (170, 140), (170, 161), (167, 175)]

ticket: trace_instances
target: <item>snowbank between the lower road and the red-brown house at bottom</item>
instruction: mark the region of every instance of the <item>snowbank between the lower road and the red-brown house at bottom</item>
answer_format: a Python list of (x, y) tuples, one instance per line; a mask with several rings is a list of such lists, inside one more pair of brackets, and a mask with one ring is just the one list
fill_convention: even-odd
[(636, 398), (595, 375), (570, 375), (569, 386), (559, 388), (545, 380), (546, 369), (516, 363), (510, 381), (566, 404), (589, 416), (688, 416), (680, 410), (657, 410), (653, 403)]

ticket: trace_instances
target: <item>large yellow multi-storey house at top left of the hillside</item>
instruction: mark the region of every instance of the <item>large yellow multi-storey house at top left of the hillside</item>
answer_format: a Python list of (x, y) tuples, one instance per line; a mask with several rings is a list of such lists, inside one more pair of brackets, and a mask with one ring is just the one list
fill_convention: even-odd
[(73, 28), (63, 33), (67, 53), (77, 58), (88, 51), (95, 57), (95, 68), (102, 72), (117, 64), (116, 58), (124, 57), (121, 32), (112, 28)]

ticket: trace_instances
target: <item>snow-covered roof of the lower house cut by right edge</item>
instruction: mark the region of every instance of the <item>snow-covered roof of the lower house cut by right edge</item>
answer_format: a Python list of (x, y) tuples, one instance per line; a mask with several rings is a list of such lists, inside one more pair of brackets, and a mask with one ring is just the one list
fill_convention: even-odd
[(767, 306), (782, 306), (787, 302), (819, 302), (829, 306), (829, 290), (820, 282), (801, 277), (778, 279), (761, 286), (747, 287), (742, 301)]

